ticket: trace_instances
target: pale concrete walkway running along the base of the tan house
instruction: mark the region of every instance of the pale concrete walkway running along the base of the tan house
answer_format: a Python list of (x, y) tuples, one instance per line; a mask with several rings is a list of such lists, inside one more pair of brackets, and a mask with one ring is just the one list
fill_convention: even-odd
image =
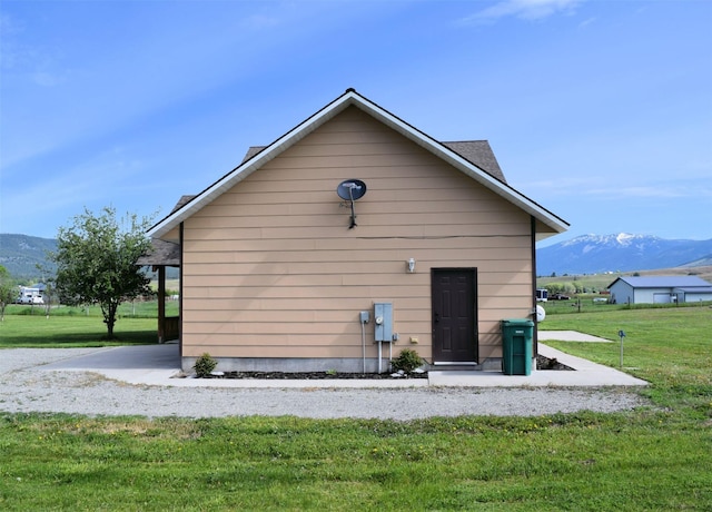
[[(565, 334), (574, 333), (574, 334)], [(77, 371), (98, 373), (107, 378), (136, 385), (191, 386), (191, 387), (520, 387), (520, 386), (643, 386), (645, 381), (591, 361), (565, 354), (541, 343), (542, 339), (606, 341), (575, 332), (540, 332), (538, 351), (544, 357), (556, 358), (575, 371), (534, 370), (531, 375), (504, 375), (485, 371), (431, 371), (428, 378), (404, 380), (201, 380), (180, 378), (178, 345), (142, 345), (97, 348), (90, 354), (68, 358), (38, 370)], [(543, 335), (543, 336), (542, 336)], [(568, 336), (568, 337), (565, 337)]]

